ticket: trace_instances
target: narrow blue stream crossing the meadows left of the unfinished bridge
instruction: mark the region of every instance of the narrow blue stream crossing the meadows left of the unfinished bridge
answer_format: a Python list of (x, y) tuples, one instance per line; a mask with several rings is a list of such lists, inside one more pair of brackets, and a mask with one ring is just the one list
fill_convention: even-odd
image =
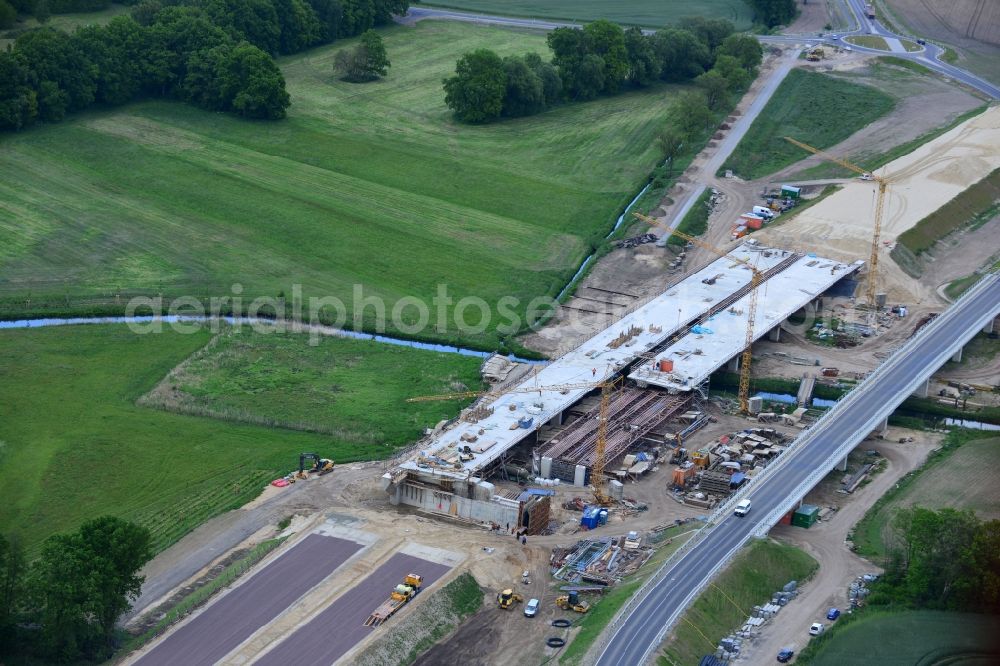
[[(43, 318), (43, 319), (17, 319), (14, 321), (0, 321), (0, 330), (10, 330), (10, 329), (24, 329), (24, 328), (48, 328), (51, 326), (73, 326), (77, 324), (149, 324), (154, 320), (159, 319), (165, 324), (173, 323), (198, 323), (198, 322), (210, 322), (213, 319), (221, 319), (229, 324), (273, 324), (274, 322), (270, 319), (262, 319), (258, 317), (191, 317), (184, 315), (164, 315), (162, 317), (153, 317), (152, 315), (139, 315), (134, 317), (68, 317), (68, 318)], [(305, 328), (305, 326), (303, 327)], [(423, 349), (426, 351), (442, 352), (445, 354), (460, 354), (462, 356), (475, 356), (477, 358), (489, 358), (493, 355), (493, 352), (484, 352), (477, 349), (467, 349), (465, 347), (454, 347), (451, 345), (440, 345), (432, 342), (417, 342), (416, 340), (406, 340), (403, 338), (394, 338), (390, 335), (378, 335), (374, 333), (359, 333), (358, 331), (349, 331), (342, 328), (334, 328), (332, 326), (310, 326), (309, 328), (322, 333), (323, 335), (329, 335), (333, 337), (340, 338), (352, 338), (354, 340), (372, 340), (374, 342), (380, 342), (387, 345), (396, 345), (399, 347), (410, 347), (412, 349)], [(308, 329), (306, 329), (308, 330)], [(303, 331), (304, 332), (304, 331)], [(541, 365), (548, 363), (548, 361), (536, 361), (526, 358), (520, 358), (518, 356), (511, 357), (514, 361), (518, 363), (528, 363), (531, 365)]]

